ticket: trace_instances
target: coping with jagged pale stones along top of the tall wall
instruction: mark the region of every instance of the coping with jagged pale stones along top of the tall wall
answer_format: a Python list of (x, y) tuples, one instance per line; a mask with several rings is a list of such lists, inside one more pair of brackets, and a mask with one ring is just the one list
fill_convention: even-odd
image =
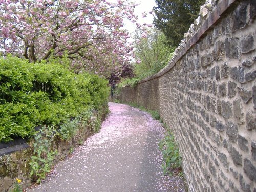
[[(187, 40), (186, 44), (184, 44), (184, 40), (182, 40), (181, 45), (178, 47), (178, 50), (175, 50), (176, 53), (175, 53), (174, 57), (172, 58), (172, 60), (170, 60), (168, 65), (165, 68), (163, 68), (161, 71), (159, 71), (157, 74), (154, 74), (150, 77), (147, 77), (147, 78), (141, 80), (138, 84), (158, 78), (158, 77), (164, 75), (165, 73), (167, 73), (168, 71), (170, 71), (170, 69), (172, 69), (176, 65), (176, 63), (181, 59), (181, 57), (184, 56), (186, 54), (186, 52), (193, 45), (195, 45), (200, 38), (203, 37), (205, 32), (208, 29), (210, 29), (211, 26), (214, 25), (221, 18), (221, 15), (224, 12), (226, 12), (226, 10), (232, 4), (234, 4), (234, 2), (238, 2), (238, 1), (239, 0), (220, 0), (217, 3), (217, 5), (214, 6), (214, 9), (212, 9), (212, 11), (209, 13), (209, 16), (204, 20), (202, 25), (197, 29), (196, 32), (194, 32), (194, 34), (191, 35), (189, 40)], [(207, 5), (207, 4), (205, 4), (205, 5)], [(205, 6), (205, 5), (203, 5), (203, 6)], [(201, 9), (202, 9), (202, 6), (200, 7), (200, 12), (201, 12)], [(200, 18), (200, 16), (199, 16), (199, 18)], [(195, 22), (197, 22), (197, 20), (195, 20)], [(192, 25), (194, 25), (194, 24), (191, 24), (191, 26)], [(190, 28), (191, 28), (191, 26), (190, 26)], [(189, 30), (190, 30), (190, 28), (189, 28)], [(186, 35), (186, 33), (185, 33), (185, 35)]]

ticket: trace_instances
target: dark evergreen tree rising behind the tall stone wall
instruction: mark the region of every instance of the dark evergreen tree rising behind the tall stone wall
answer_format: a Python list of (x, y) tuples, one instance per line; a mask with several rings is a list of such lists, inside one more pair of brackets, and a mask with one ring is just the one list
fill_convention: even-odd
[(156, 3), (153, 23), (167, 37), (166, 43), (177, 47), (205, 0), (156, 0)]

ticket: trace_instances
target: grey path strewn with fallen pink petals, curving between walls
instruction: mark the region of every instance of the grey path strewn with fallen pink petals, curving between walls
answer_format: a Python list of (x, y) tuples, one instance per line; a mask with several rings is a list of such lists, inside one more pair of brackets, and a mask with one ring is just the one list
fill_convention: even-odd
[(109, 103), (109, 108), (100, 132), (27, 191), (185, 191), (181, 178), (163, 175), (161, 123), (124, 104)]

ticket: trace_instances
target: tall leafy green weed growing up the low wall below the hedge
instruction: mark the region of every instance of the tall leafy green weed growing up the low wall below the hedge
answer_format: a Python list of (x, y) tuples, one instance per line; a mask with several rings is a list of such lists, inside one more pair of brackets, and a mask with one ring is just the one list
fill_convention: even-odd
[(37, 183), (41, 183), (41, 180), (46, 178), (46, 174), (51, 171), (53, 160), (57, 155), (57, 151), (51, 150), (54, 133), (54, 127), (44, 126), (35, 136), (34, 152), (29, 164), (31, 167), (30, 177)]

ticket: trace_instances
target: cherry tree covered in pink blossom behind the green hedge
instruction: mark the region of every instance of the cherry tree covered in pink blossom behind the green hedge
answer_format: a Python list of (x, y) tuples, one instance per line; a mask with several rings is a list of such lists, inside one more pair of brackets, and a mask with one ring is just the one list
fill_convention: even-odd
[(124, 19), (137, 21), (135, 6), (125, 0), (0, 0), (0, 51), (30, 62), (66, 57), (76, 72), (118, 68), (132, 56), (122, 27)]

